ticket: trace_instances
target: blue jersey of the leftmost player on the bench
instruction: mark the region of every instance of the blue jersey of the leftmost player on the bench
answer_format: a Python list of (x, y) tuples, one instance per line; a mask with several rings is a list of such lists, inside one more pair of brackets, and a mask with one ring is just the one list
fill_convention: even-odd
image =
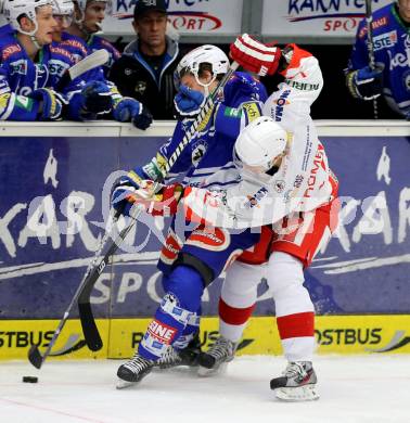
[(62, 81), (63, 75), (75, 64), (72, 54), (61, 47), (49, 44), (38, 52), (35, 63), (15, 34), (8, 31), (0, 38), (0, 119), (36, 120), (41, 101), (30, 94), (40, 88), (51, 88), (64, 94), (68, 101), (67, 117), (80, 119), (79, 93), (87, 74), (74, 81)]

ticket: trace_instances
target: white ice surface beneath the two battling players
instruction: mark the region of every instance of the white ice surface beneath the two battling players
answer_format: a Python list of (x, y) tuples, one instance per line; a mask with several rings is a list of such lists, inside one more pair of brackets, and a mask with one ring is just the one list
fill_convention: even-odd
[[(410, 356), (317, 357), (321, 399), (279, 402), (269, 381), (279, 357), (239, 357), (226, 373), (198, 379), (179, 368), (115, 389), (108, 361), (0, 362), (1, 423), (409, 423)], [(22, 383), (38, 375), (38, 384)]]

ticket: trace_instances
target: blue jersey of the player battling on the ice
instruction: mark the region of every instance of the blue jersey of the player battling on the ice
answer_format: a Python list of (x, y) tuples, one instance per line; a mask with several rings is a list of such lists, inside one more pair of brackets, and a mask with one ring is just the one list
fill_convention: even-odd
[[(261, 115), (266, 99), (266, 89), (258, 80), (248, 74), (233, 74), (225, 86), (222, 98), (216, 102), (213, 113), (205, 116), (170, 172), (185, 174), (187, 184), (203, 185), (205, 178), (222, 169), (218, 180), (213, 181), (213, 189), (234, 183), (238, 171), (232, 162), (233, 144), (241, 127)], [(161, 163), (172, 155), (184, 133), (184, 124), (178, 123), (169, 142), (143, 167), (150, 179), (158, 178), (155, 168), (161, 168)]]

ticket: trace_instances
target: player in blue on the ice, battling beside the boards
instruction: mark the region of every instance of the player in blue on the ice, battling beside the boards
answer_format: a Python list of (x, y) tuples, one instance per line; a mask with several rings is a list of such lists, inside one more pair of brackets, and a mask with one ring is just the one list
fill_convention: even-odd
[[(214, 46), (197, 48), (181, 60), (176, 70), (179, 93), (175, 101), (181, 121), (177, 124), (169, 143), (159, 149), (150, 163), (131, 170), (115, 187), (115, 208), (127, 214), (132, 205), (132, 193), (144, 190), (141, 189), (143, 180), (163, 179), (164, 163), (183, 138), (185, 125), (190, 125), (190, 119), (197, 115), (228, 66), (226, 54)], [(238, 171), (232, 163), (233, 143), (241, 126), (260, 116), (260, 104), (266, 97), (259, 81), (247, 74), (235, 73), (170, 171), (188, 171), (187, 184), (203, 185), (205, 178), (222, 169), (218, 179), (208, 178), (207, 187), (218, 189), (235, 183)], [(166, 192), (163, 194), (166, 201)], [(168, 201), (172, 208), (172, 198)], [(256, 244), (259, 235), (258, 231), (238, 234), (201, 226), (178, 231), (174, 221), (158, 264), (164, 272), (166, 295), (134, 357), (118, 369), (117, 374), (123, 381), (139, 382), (155, 364), (167, 367), (168, 363), (195, 362), (195, 354), (187, 356), (185, 347), (198, 332), (204, 289), (232, 260)], [(166, 332), (164, 336), (162, 332)]]

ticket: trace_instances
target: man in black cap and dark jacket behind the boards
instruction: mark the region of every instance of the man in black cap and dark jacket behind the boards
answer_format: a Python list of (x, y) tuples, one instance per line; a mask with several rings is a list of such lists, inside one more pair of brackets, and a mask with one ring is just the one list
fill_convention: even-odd
[(113, 65), (108, 79), (123, 95), (146, 105), (154, 119), (174, 118), (174, 70), (180, 61), (178, 41), (166, 35), (165, 0), (139, 0), (133, 10), (137, 39)]

